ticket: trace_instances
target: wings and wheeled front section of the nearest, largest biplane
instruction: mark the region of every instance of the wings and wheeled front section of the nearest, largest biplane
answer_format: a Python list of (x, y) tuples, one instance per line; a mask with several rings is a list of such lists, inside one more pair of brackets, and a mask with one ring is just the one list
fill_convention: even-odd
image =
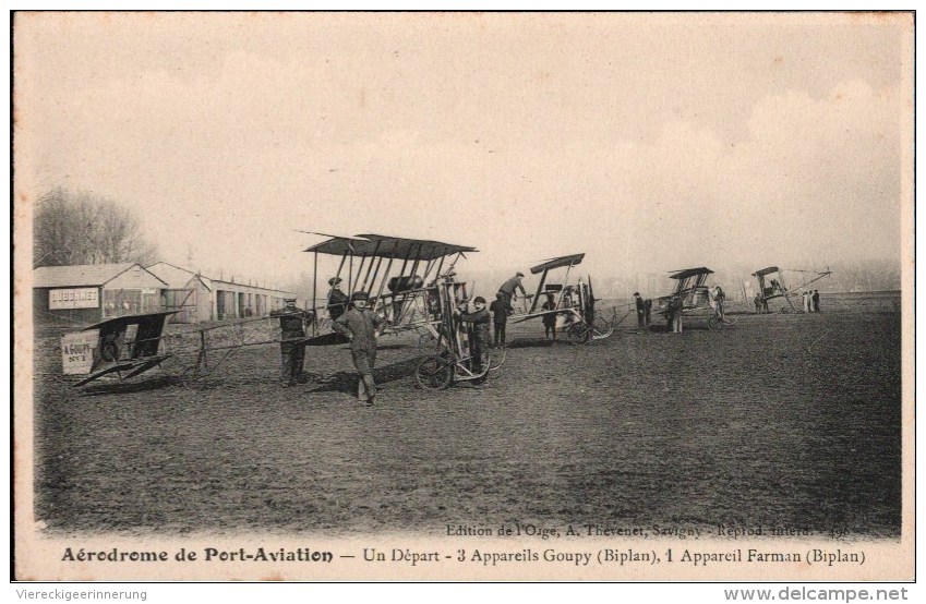
[[(301, 231), (306, 232), (306, 231)], [(308, 346), (342, 343), (341, 336), (330, 331), (330, 322), (341, 311), (345, 298), (363, 291), (370, 295), (370, 307), (386, 319), (385, 334), (413, 330), (419, 346), (433, 346), (416, 370), (419, 385), (428, 389), (446, 388), (454, 382), (479, 380), (504, 362), (504, 351), (495, 351), (494, 360), (480, 366), (473, 354), (473, 341), (466, 325), (454, 311), (469, 300), (467, 283), (456, 279), (456, 263), (476, 247), (440, 241), (406, 239), (382, 234), (328, 237), (305, 250), (314, 255), (313, 303), (315, 322)], [(329, 289), (318, 298), (318, 255), (339, 257), (334, 277), (324, 281)], [(333, 297), (336, 285), (346, 291)]]

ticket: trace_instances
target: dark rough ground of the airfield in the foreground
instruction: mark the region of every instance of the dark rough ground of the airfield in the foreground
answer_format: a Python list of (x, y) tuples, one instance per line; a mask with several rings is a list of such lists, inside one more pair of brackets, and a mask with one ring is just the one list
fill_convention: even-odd
[[(827, 302), (830, 302), (829, 300)], [(37, 340), (36, 515), (50, 534), (240, 531), (446, 534), (446, 524), (718, 523), (859, 537), (901, 528), (901, 315), (850, 301), (814, 315), (688, 321), (548, 345), (509, 327), (483, 387), (417, 387), (409, 337), (381, 341), (372, 408), (350, 354), (310, 348), (277, 382), (274, 346), (202, 389), (180, 360), (131, 383), (60, 376)]]

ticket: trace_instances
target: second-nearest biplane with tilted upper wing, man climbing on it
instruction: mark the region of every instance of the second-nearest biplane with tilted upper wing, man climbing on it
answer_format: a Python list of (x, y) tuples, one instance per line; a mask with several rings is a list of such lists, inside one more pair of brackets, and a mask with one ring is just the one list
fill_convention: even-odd
[[(591, 285), (591, 276), (588, 282), (581, 277), (574, 285), (569, 283), (569, 273), (574, 266), (581, 264), (585, 254), (572, 254), (550, 258), (530, 269), (531, 275), (540, 275), (537, 292), (524, 300), (520, 309), (516, 309), (512, 318), (513, 323), (524, 323), (532, 318), (548, 315), (556, 316), (556, 327), (565, 331), (572, 343), (586, 343), (590, 340), (599, 340), (614, 333), (613, 322), (597, 317), (594, 312), (594, 291)], [(551, 270), (566, 268), (562, 283), (548, 282)], [(543, 309), (541, 298), (553, 297), (553, 307)], [(529, 306), (527, 303), (529, 302)]]

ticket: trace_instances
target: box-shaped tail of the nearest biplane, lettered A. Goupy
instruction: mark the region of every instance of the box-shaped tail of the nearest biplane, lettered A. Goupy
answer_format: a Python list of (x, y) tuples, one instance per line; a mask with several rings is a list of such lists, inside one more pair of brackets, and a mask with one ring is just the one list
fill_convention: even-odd
[(164, 325), (176, 313), (125, 315), (64, 334), (61, 337), (64, 375), (85, 376), (74, 384), (83, 386), (105, 375), (129, 379), (160, 365), (171, 357), (160, 351)]

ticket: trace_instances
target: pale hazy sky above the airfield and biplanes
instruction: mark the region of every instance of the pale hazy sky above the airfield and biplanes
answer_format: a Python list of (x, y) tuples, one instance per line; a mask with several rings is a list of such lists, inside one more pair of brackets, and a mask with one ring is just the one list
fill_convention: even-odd
[(909, 15), (20, 13), (14, 37), (20, 192), (117, 200), (179, 265), (285, 282), (320, 241), (296, 229), (608, 279), (901, 257)]

